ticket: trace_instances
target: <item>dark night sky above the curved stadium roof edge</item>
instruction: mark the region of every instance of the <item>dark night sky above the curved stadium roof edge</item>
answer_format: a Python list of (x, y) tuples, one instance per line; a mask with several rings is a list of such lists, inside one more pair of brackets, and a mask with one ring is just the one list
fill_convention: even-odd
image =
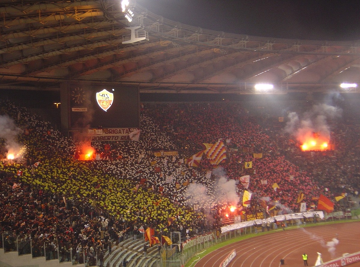
[(216, 31), (302, 40), (360, 40), (360, 1), (137, 0), (150, 12)]

